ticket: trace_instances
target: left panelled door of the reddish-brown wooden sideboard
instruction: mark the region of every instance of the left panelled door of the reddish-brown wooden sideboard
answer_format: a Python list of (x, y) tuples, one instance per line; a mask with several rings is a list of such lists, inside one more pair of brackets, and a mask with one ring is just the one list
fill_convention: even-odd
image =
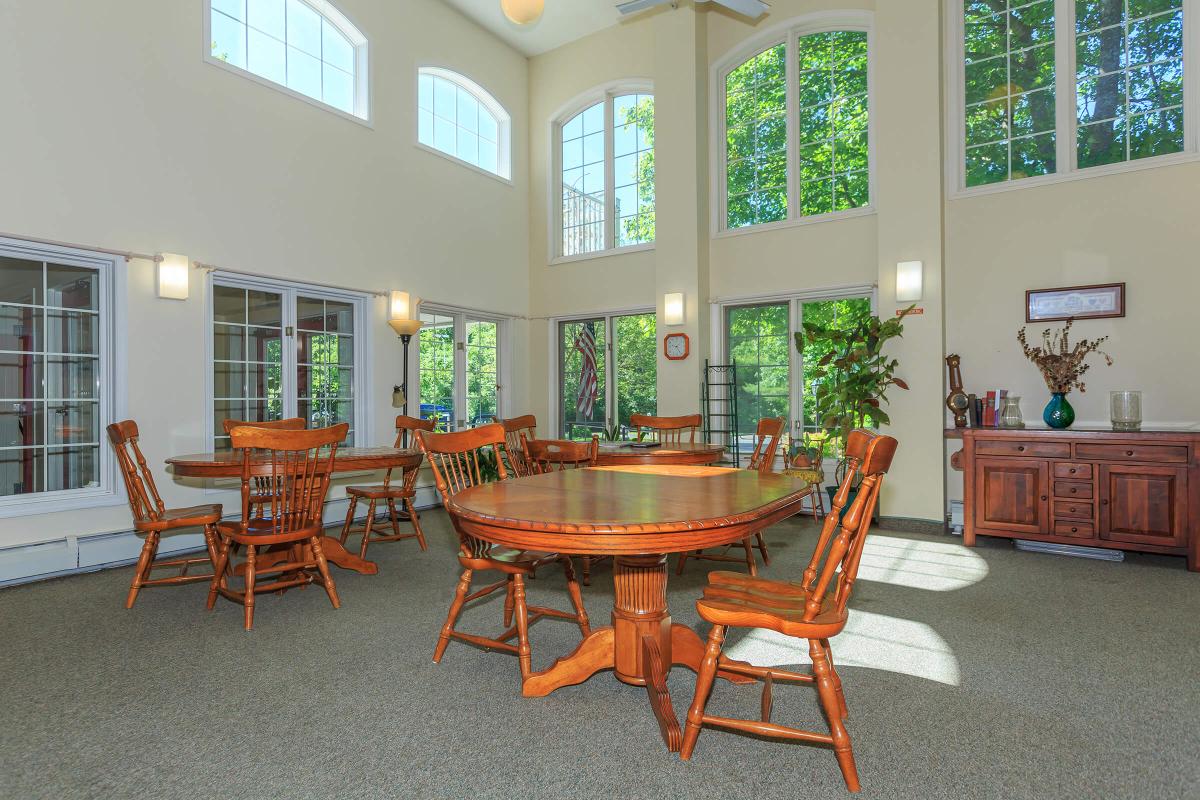
[(1049, 463), (1036, 458), (976, 458), (974, 524), (1030, 534), (1050, 531)]

